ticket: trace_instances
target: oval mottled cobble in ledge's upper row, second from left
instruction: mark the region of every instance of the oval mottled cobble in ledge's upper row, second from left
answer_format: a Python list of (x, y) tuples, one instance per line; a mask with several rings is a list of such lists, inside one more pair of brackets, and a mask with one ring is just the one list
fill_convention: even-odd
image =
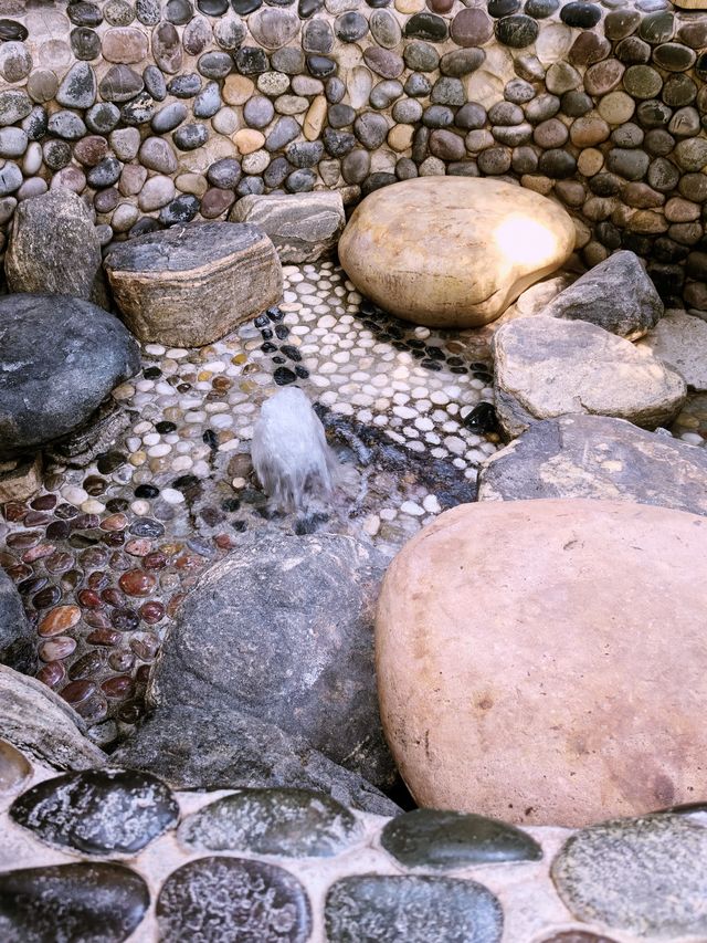
[(363, 838), (345, 806), (308, 789), (240, 789), (182, 822), (178, 840), (193, 851), (247, 851), (329, 858)]

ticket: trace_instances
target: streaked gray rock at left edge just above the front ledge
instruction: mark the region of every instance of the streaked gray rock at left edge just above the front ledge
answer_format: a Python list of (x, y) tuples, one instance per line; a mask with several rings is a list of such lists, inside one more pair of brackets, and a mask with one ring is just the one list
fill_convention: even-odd
[(55, 769), (93, 769), (106, 755), (84, 736), (86, 726), (57, 694), (0, 666), (0, 735)]

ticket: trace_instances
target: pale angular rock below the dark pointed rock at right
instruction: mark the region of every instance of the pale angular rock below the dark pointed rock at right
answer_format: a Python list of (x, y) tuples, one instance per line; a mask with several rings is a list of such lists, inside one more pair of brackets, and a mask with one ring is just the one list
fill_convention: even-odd
[(537, 419), (585, 412), (655, 429), (687, 396), (647, 350), (584, 321), (521, 317), (494, 335), (496, 409), (508, 438)]

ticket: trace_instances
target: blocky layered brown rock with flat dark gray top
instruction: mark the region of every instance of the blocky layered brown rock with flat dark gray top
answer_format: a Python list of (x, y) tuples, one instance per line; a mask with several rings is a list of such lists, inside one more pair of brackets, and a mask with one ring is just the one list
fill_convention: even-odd
[(202, 347), (282, 297), (271, 240), (249, 223), (197, 222), (122, 242), (104, 262), (140, 340)]

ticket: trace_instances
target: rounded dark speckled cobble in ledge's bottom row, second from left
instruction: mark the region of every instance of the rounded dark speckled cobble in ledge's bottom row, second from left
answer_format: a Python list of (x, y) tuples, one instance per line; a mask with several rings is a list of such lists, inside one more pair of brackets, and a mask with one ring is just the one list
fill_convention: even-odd
[(284, 868), (242, 858), (200, 858), (165, 881), (157, 921), (165, 943), (305, 943), (312, 908), (305, 889)]

